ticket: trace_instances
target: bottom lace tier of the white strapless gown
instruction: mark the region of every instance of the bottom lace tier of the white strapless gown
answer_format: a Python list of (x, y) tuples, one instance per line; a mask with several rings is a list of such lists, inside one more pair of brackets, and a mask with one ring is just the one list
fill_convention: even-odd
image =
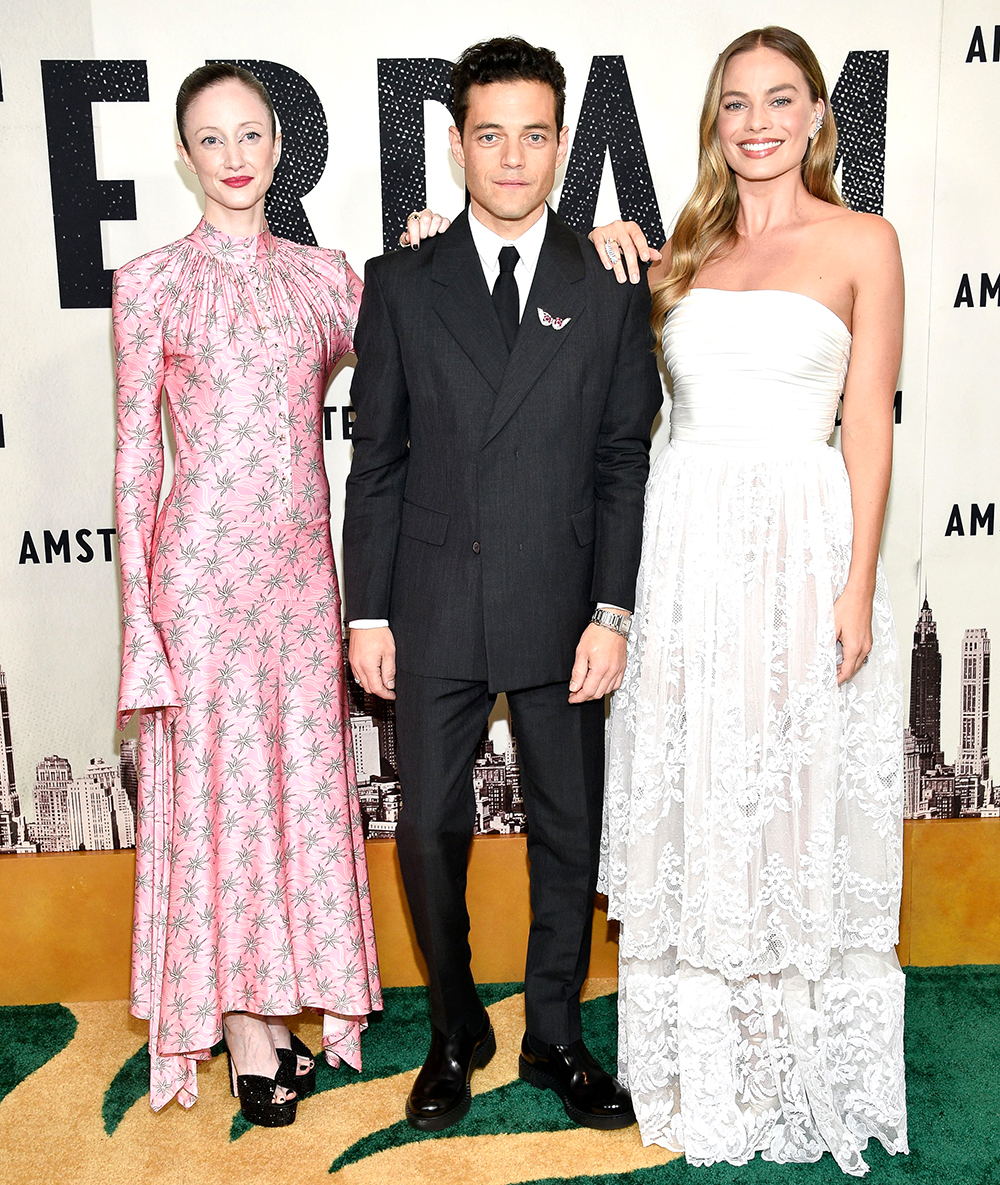
[(833, 953), (819, 982), (622, 957), (618, 1074), (642, 1142), (693, 1165), (829, 1151), (851, 1176), (871, 1139), (906, 1152), (903, 998), (896, 956), (870, 950)]

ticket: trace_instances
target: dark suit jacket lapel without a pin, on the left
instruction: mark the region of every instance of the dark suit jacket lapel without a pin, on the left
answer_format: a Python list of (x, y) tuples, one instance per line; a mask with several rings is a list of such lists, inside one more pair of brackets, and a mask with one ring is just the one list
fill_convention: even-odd
[(443, 289), (435, 302), (435, 312), (480, 374), (499, 393), (509, 356), (467, 212), (459, 214), (448, 233), (437, 239), (430, 277)]

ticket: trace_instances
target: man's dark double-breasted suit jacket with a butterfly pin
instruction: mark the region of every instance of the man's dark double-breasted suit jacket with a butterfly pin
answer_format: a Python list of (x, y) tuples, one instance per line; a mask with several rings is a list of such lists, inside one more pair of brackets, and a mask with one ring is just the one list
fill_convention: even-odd
[(661, 402), (647, 286), (551, 211), (513, 351), (466, 213), (365, 284), (348, 620), (387, 619), (412, 674), (568, 680), (595, 602), (634, 603)]

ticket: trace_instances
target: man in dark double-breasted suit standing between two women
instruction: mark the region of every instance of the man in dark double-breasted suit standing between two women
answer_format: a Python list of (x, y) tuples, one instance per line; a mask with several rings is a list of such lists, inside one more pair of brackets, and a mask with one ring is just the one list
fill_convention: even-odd
[(626, 662), (649, 431), (661, 402), (646, 284), (615, 283), (549, 210), (565, 76), (498, 38), (455, 66), (451, 150), (469, 209), (368, 263), (352, 387), (345, 563), (351, 665), (396, 699), (396, 832), (430, 975), (431, 1048), (406, 1104), (457, 1122), (495, 1042), (473, 981), (473, 762), (506, 692), (533, 921), (520, 1075), (591, 1127), (634, 1121), (581, 1038), (604, 776)]

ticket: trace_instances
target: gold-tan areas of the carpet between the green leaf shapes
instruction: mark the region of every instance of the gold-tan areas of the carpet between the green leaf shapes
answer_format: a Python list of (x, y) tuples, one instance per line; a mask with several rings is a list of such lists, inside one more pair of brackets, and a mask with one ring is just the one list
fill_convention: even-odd
[[(585, 998), (615, 991), (614, 980), (588, 985)], [(11, 1185), (512, 1185), (512, 1183), (626, 1172), (665, 1164), (672, 1154), (643, 1148), (639, 1129), (523, 1132), (463, 1135), (466, 1122), (442, 1136), (374, 1151), (331, 1174), (357, 1141), (396, 1125), (416, 1070), (350, 1082), (303, 1100), (295, 1125), (233, 1134), (238, 1110), (224, 1058), (199, 1070), (199, 1100), (160, 1114), (147, 1098), (107, 1134), (102, 1106), (116, 1074), (143, 1045), (146, 1026), (123, 1003), (70, 1004), (76, 1033), (62, 1052), (30, 1074), (0, 1102), (0, 1180)], [(473, 1080), (474, 1095), (517, 1078), (524, 997), (491, 1005), (496, 1056)], [(391, 1025), (391, 1016), (383, 1024)], [(320, 1042), (319, 1024), (299, 1033)], [(541, 1096), (539, 1096), (541, 1097)], [(551, 1096), (547, 1096), (551, 1098)], [(475, 1100), (469, 1119), (476, 1112)]]

